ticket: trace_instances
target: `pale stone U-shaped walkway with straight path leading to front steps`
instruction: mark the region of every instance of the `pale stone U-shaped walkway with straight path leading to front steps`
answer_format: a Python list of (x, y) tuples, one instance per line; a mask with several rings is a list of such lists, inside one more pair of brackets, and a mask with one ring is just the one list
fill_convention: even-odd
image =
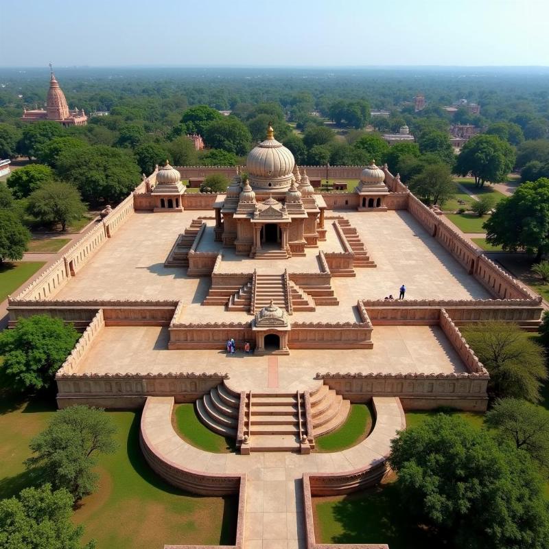
[[(141, 417), (142, 444), (163, 461), (162, 467), (172, 478), (177, 475), (174, 470), (180, 471), (183, 484), (190, 471), (195, 478), (246, 475), (244, 549), (305, 548), (303, 474), (358, 474), (369, 468), (379, 471), (390, 453), (390, 441), (397, 431), (406, 428), (398, 398), (374, 397), (377, 419), (373, 431), (364, 441), (342, 452), (212, 454), (178, 436), (172, 427), (173, 406), (173, 397), (148, 397)], [(157, 472), (162, 476), (163, 471)]]

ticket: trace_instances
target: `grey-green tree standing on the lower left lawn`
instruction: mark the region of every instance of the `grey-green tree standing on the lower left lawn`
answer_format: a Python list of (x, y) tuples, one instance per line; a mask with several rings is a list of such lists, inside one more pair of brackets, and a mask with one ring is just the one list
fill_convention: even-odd
[(93, 493), (99, 475), (93, 471), (97, 454), (113, 454), (117, 444), (113, 421), (102, 408), (71, 406), (58, 410), (47, 428), (30, 442), (33, 456), (27, 468), (75, 500)]

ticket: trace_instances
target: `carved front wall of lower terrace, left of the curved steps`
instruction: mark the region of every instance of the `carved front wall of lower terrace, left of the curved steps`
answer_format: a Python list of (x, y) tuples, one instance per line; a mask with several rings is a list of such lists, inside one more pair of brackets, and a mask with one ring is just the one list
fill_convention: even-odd
[(222, 373), (72, 373), (56, 376), (59, 408), (93, 404), (141, 408), (148, 396), (194, 402), (227, 379)]

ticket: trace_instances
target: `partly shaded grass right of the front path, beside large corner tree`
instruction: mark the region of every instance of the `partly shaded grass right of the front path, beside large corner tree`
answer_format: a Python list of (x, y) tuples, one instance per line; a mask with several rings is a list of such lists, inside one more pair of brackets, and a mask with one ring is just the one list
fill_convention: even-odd
[(410, 521), (394, 484), (351, 495), (313, 498), (317, 544), (388, 544), (391, 549), (440, 548)]

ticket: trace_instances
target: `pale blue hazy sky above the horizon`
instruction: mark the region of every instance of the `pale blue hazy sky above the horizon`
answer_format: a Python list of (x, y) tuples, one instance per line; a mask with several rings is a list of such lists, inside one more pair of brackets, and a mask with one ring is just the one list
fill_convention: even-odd
[(0, 66), (549, 65), (548, 0), (0, 0)]

